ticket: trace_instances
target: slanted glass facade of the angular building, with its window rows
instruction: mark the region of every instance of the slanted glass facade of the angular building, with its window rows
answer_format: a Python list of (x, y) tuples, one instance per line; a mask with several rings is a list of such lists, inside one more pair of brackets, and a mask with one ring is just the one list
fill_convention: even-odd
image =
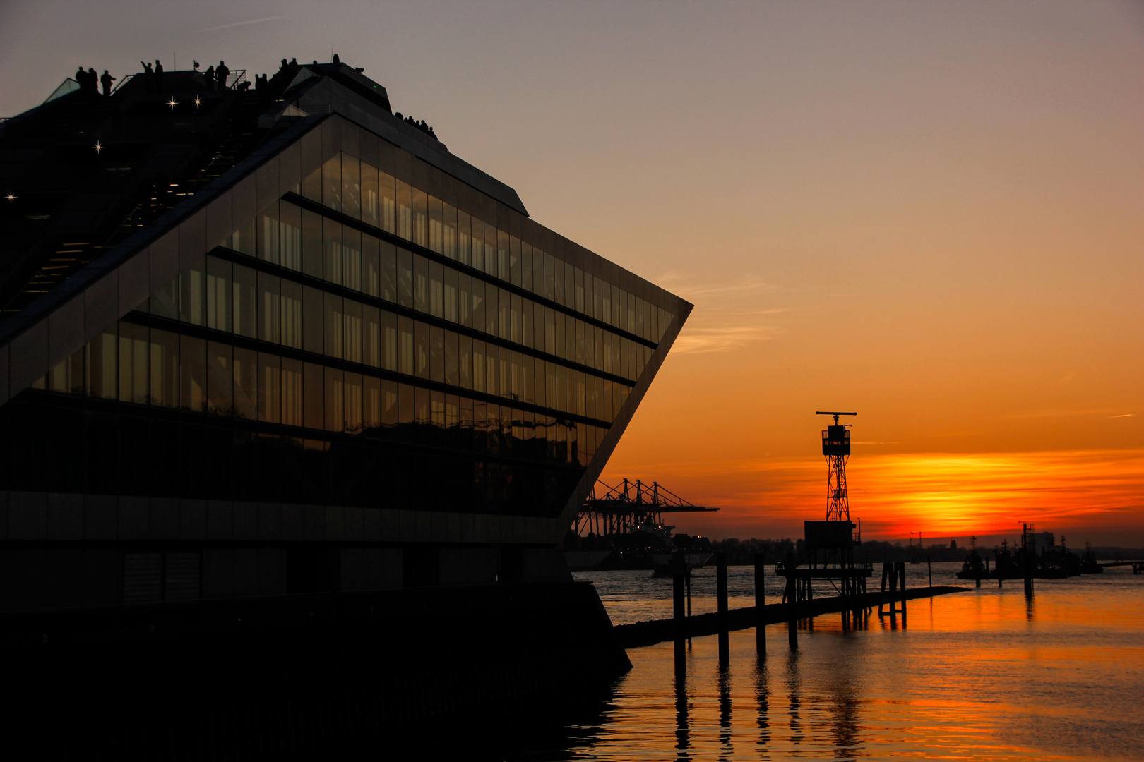
[(341, 118), (297, 147), (313, 171), (236, 189), (222, 246), (0, 410), (0, 488), (561, 512), (674, 315)]

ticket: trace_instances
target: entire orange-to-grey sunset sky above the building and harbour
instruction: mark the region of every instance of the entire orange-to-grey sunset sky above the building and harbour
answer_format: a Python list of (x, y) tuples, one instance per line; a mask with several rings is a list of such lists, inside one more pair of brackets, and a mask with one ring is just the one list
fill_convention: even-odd
[[(343, 61), (696, 310), (605, 476), (796, 536), (851, 409), (866, 537), (1144, 545), (1144, 5), (8, 2), (0, 113), (79, 63)], [(212, 29), (221, 27), (221, 29)]]

